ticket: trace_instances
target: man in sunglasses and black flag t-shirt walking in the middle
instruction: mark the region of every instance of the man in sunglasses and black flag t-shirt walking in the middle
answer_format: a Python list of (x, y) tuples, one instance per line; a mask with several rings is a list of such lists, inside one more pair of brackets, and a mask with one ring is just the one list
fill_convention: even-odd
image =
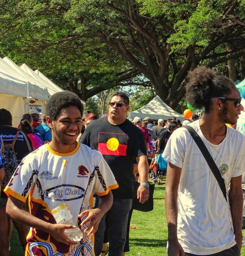
[[(114, 202), (107, 212), (109, 220), (109, 255), (123, 253), (126, 242), (126, 227), (132, 198), (134, 197), (134, 159), (139, 162), (140, 186), (138, 198), (144, 203), (149, 198), (148, 162), (143, 133), (126, 119), (129, 97), (124, 92), (115, 92), (109, 102), (108, 117), (94, 120), (86, 128), (81, 143), (98, 150), (109, 164), (117, 183)], [(101, 253), (105, 230), (105, 218), (101, 219), (95, 235), (95, 254)]]

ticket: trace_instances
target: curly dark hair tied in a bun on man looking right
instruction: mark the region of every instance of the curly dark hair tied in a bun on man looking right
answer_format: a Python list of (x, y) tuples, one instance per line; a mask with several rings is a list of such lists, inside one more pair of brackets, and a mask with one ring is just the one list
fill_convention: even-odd
[(235, 84), (227, 77), (217, 75), (207, 67), (197, 67), (187, 76), (185, 99), (194, 108), (205, 108), (210, 111), (211, 100), (215, 97), (225, 97)]

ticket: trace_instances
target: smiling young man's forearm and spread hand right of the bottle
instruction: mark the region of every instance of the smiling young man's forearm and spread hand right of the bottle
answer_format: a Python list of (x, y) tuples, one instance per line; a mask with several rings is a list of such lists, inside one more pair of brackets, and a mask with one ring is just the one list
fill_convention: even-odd
[(96, 233), (96, 231), (98, 230), (101, 218), (104, 216), (106, 212), (108, 212), (111, 209), (112, 203), (113, 203), (113, 195), (112, 195), (112, 192), (109, 191), (107, 195), (103, 197), (99, 197), (98, 208), (85, 210), (78, 215), (79, 218), (82, 218), (83, 216), (87, 215), (87, 218), (83, 220), (81, 225), (85, 225), (90, 221), (90, 223), (88, 224), (88, 227), (84, 230), (85, 232), (88, 231), (88, 236)]

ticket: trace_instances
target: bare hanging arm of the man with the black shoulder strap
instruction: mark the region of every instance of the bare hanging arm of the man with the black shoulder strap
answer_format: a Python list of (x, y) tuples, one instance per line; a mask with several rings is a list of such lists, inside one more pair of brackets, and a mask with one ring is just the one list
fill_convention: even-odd
[(182, 246), (179, 244), (177, 238), (177, 197), (179, 179), (181, 168), (168, 163), (167, 166), (167, 179), (166, 179), (166, 194), (165, 194), (165, 208), (168, 225), (168, 255), (169, 256), (184, 256)]

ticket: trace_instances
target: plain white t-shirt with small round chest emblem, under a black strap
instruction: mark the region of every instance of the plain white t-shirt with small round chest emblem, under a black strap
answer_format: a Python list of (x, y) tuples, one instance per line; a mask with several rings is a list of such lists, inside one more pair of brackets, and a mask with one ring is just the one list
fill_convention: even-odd
[[(245, 137), (227, 127), (224, 140), (219, 145), (213, 145), (203, 136), (199, 120), (189, 125), (205, 143), (225, 179), (227, 189), (231, 178), (244, 172)], [(177, 236), (184, 251), (208, 255), (234, 246), (235, 235), (228, 204), (187, 129), (174, 131), (162, 156), (182, 168), (178, 189)]]

